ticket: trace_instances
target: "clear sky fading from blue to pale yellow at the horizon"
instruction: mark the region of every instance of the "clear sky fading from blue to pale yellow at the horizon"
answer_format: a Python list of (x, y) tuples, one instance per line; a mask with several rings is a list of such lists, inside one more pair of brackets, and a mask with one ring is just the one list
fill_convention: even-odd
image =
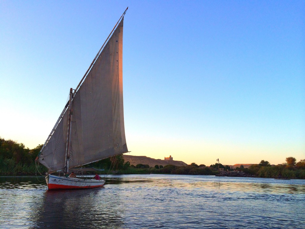
[(305, 1), (0, 1), (0, 136), (43, 144), (124, 10), (130, 155), (305, 158)]

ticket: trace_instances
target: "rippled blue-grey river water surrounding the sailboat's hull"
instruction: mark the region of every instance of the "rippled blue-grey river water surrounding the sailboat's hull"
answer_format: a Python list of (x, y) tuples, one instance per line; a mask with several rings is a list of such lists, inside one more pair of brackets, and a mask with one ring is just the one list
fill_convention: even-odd
[(120, 175), (48, 191), (43, 177), (0, 177), (0, 228), (302, 229), (304, 209), (305, 180)]

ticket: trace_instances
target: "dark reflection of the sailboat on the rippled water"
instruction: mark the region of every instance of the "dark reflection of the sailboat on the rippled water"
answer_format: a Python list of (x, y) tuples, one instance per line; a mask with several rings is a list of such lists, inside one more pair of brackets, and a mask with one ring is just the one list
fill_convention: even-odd
[(109, 209), (114, 201), (102, 198), (104, 191), (103, 187), (45, 191), (32, 205), (30, 228), (124, 228), (123, 210)]

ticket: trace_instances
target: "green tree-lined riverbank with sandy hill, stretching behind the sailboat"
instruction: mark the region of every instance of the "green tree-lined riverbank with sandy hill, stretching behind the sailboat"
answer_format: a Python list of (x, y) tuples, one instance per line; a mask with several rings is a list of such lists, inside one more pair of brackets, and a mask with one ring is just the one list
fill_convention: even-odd
[[(0, 137), (0, 174), (6, 175), (30, 175), (45, 174), (47, 168), (41, 164), (35, 164), (34, 160), (41, 150), (42, 145), (34, 149), (25, 148), (13, 140), (5, 140)], [(263, 178), (287, 178), (305, 179), (305, 160), (298, 163), (281, 164), (271, 166), (270, 163), (253, 164), (249, 168), (236, 168), (236, 171), (226, 165), (215, 164), (211, 166), (197, 165), (192, 163), (186, 165), (180, 161), (164, 161), (160, 159), (140, 157), (141, 162), (135, 164), (136, 156), (117, 155), (98, 162), (86, 165), (96, 169), (105, 169), (100, 174), (176, 174), (176, 175), (216, 175), (236, 177), (263, 177)], [(291, 157), (292, 158), (292, 157)], [(128, 159), (131, 161), (128, 161)], [(289, 158), (286, 158), (289, 159)], [(293, 158), (295, 160), (295, 158)], [(146, 164), (151, 162), (150, 165)], [(262, 162), (265, 162), (262, 160)], [(165, 164), (164, 164), (165, 163)], [(151, 165), (154, 165), (152, 167)], [(223, 169), (219, 171), (218, 169)], [(110, 171), (110, 172), (109, 172)], [(87, 173), (91, 174), (91, 173)]]

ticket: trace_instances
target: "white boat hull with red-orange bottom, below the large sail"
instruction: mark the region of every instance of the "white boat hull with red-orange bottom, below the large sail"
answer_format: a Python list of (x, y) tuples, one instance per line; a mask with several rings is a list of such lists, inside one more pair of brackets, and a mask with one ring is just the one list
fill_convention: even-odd
[(48, 175), (46, 177), (48, 189), (79, 189), (79, 188), (97, 188), (105, 184), (105, 180), (78, 179), (64, 176)]

